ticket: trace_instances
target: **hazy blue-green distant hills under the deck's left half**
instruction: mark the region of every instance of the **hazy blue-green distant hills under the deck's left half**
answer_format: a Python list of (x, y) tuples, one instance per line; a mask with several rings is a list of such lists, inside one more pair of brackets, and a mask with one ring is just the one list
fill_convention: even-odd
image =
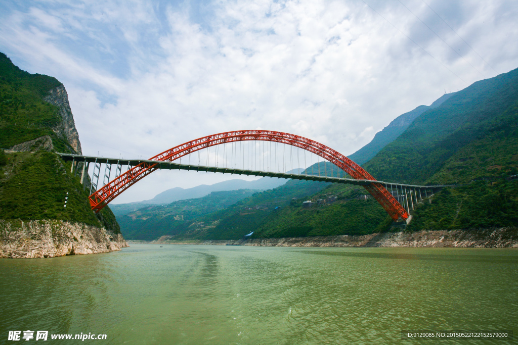
[[(256, 223), (275, 207), (289, 205), (293, 198), (307, 198), (327, 185), (290, 180), (283, 186), (266, 191), (241, 189), (212, 192), (203, 198), (146, 206), (123, 216), (118, 215), (117, 220), (127, 239), (151, 241), (163, 235), (179, 239), (224, 238), (229, 230), (234, 236), (241, 237), (241, 232), (254, 229)], [(234, 219), (232, 225), (223, 221), (221, 223), (225, 226), (219, 226), (221, 218), (226, 217)]]

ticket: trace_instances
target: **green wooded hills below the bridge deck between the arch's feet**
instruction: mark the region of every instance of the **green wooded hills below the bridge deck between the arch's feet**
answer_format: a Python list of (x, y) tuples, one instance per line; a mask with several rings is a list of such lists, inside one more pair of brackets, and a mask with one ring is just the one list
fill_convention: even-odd
[[(240, 239), (252, 231), (253, 237), (367, 234), (383, 221), (386, 213), (375, 200), (365, 200), (365, 193), (363, 188), (355, 186), (289, 181), (284, 186), (256, 192), (232, 206), (196, 218), (184, 217), (180, 221), (179, 212), (176, 216), (161, 218), (157, 224), (152, 214), (163, 206), (152, 206), (119, 217), (119, 222), (126, 237), (148, 241), (163, 235), (174, 240)], [(189, 202), (193, 206), (203, 205), (204, 199)], [(308, 199), (314, 201), (314, 206), (304, 208), (303, 201)], [(319, 199), (332, 203), (319, 204)], [(126, 223), (130, 217), (135, 217), (131, 228)]]

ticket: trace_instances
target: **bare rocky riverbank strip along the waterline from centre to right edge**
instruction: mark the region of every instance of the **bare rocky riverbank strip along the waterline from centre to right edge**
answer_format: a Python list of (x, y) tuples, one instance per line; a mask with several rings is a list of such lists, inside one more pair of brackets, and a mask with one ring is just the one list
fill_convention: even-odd
[(267, 247), (472, 247), (518, 248), (518, 228), (385, 232), (369, 235), (340, 235), (246, 240), (171, 241), (162, 236), (155, 241), (127, 241), (150, 244), (241, 245)]

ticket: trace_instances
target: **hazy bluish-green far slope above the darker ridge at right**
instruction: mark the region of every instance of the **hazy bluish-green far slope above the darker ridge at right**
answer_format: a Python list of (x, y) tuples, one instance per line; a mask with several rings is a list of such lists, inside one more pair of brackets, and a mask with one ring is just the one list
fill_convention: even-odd
[[(494, 145), (491, 144), (493, 148), (498, 147), (498, 156), (490, 158), (495, 161), (509, 160), (515, 150), (512, 146), (499, 146), (495, 139), (509, 144), (515, 140), (517, 105), (518, 69), (476, 82), (457, 92), (440, 107), (416, 118), (399, 138), (366, 163), (365, 169), (381, 180), (446, 182), (438, 174), (444, 164), (463, 148), (467, 149), (467, 145), (476, 145), (476, 142), (483, 143), (485, 140), (494, 142)], [(469, 160), (470, 156), (457, 158)], [(465, 170), (465, 178), (457, 182), (469, 181), (472, 171), (487, 168), (485, 163), (479, 161), (466, 167), (471, 172)], [(457, 169), (457, 176), (461, 176), (458, 175), (461, 170)], [(433, 178), (435, 174), (438, 174), (437, 178)]]

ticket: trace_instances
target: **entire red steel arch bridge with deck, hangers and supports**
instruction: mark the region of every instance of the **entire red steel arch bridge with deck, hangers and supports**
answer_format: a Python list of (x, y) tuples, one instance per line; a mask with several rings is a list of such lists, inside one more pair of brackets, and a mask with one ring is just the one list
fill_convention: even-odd
[[(77, 174), (79, 166), (82, 165), (81, 183), (84, 183), (85, 173), (89, 172), (90, 163), (94, 163), (89, 200), (95, 212), (99, 212), (141, 178), (159, 169), (360, 185), (394, 220), (407, 219), (410, 207), (414, 208), (414, 200), (417, 203), (418, 198), (423, 199), (423, 194), (427, 197), (428, 192), (433, 193), (434, 189), (444, 187), (377, 181), (358, 164), (330, 147), (294, 134), (268, 130), (240, 130), (213, 134), (172, 147), (150, 159), (59, 155), (66, 161), (72, 161), (71, 172), (76, 168)], [(115, 178), (110, 180), (114, 164)], [(99, 177), (103, 170), (102, 185), (99, 186)], [(346, 177), (347, 175), (352, 178)]]

